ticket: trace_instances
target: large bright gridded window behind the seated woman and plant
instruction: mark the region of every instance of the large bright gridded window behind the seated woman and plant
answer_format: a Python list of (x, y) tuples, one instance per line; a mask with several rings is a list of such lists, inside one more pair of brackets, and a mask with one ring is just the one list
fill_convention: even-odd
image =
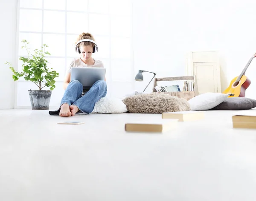
[[(66, 68), (75, 52), (75, 41), (82, 32), (95, 37), (99, 50), (93, 55), (107, 68), (107, 96), (120, 97), (134, 89), (132, 57), (132, 0), (20, 0), (18, 12), (18, 57), (26, 57), (21, 40), (29, 48), (47, 44), (51, 54), (49, 67), (59, 73), (50, 106), (58, 106)], [(17, 58), (18, 59), (18, 58)], [(21, 70), (22, 62), (18, 62)], [(28, 90), (37, 90), (32, 82), (18, 80), (16, 108), (30, 106)]]

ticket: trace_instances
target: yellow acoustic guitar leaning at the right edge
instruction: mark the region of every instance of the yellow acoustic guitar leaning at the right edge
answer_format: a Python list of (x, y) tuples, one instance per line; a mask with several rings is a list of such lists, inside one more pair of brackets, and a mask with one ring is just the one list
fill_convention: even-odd
[(251, 81), (250, 79), (245, 76), (245, 71), (247, 70), (248, 66), (252, 62), (253, 58), (256, 57), (256, 53), (253, 54), (253, 57), (249, 59), (246, 66), (244, 67), (244, 70), (241, 72), (241, 74), (230, 82), (230, 85), (227, 89), (225, 89), (222, 93), (229, 94), (228, 98), (230, 97), (244, 97), (245, 96), (245, 90), (249, 87)]

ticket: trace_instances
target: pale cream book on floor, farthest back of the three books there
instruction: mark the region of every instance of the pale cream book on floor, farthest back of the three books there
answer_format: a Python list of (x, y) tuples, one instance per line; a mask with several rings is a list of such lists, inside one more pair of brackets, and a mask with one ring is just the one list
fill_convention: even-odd
[(162, 113), (163, 119), (178, 119), (179, 122), (195, 121), (204, 119), (202, 111), (180, 111), (180, 112), (165, 112)]

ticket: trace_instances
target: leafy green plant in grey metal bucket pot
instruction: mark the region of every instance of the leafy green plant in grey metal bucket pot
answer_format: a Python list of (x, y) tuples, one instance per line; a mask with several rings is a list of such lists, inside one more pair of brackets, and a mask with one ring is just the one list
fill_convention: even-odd
[[(22, 40), (26, 48), (28, 58), (20, 57), (19, 60), (23, 61), (23, 72), (18, 72), (10, 62), (5, 64), (9, 65), (12, 70), (12, 79), (17, 81), (20, 77), (24, 77), (25, 80), (31, 81), (38, 86), (39, 90), (29, 90), (29, 98), (32, 106), (32, 110), (48, 110), (49, 102), (52, 95), (52, 90), (55, 88), (55, 78), (58, 77), (56, 71), (52, 71), (52, 68), (47, 67), (47, 60), (45, 54), (49, 52), (45, 51), (47, 45), (41, 46), (41, 49), (33, 50), (33, 54), (30, 53), (30, 49), (27, 47), (29, 42)], [(48, 87), (49, 90), (42, 90), (44, 87)]]

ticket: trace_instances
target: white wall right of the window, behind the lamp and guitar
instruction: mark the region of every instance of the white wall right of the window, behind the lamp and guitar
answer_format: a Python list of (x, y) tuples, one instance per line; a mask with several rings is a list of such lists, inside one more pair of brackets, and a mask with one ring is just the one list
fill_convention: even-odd
[[(134, 71), (184, 76), (187, 52), (219, 51), (224, 91), (256, 52), (255, 8), (253, 0), (134, 0)], [(252, 81), (246, 97), (253, 99), (255, 74), (256, 59), (246, 72)], [(136, 90), (143, 90), (152, 76), (143, 75), (145, 82), (135, 81)]]

